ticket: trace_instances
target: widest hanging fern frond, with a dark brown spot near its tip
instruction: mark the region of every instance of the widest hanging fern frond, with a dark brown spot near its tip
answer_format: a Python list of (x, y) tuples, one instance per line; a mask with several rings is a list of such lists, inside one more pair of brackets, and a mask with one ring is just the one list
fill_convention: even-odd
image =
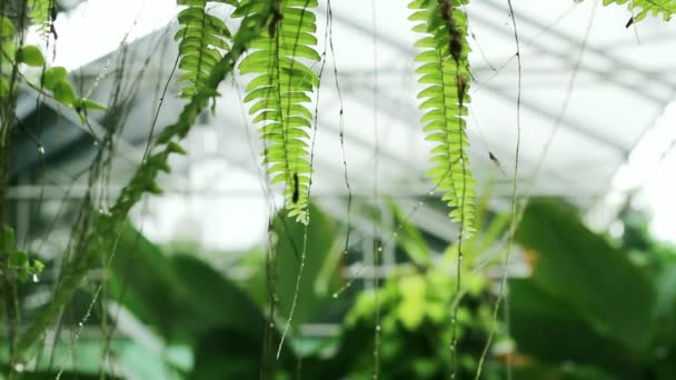
[[(239, 64), (240, 73), (257, 74), (247, 86), (245, 102), (252, 102), (250, 114), (262, 124), (266, 140), (264, 163), (271, 183), (285, 183), (289, 217), (307, 222), (310, 163), (307, 160), (308, 131), (312, 113), (305, 103), (318, 86), (317, 74), (306, 63), (319, 61), (314, 33), (317, 0), (277, 1), (276, 14), (267, 33), (252, 43), (254, 52)], [(242, 1), (238, 14), (257, 11), (258, 2)]]

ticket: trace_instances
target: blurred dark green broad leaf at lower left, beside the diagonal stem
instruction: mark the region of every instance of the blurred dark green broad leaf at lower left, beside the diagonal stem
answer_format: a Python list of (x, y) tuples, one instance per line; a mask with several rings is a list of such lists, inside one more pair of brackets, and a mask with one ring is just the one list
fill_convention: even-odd
[[(262, 306), (195, 252), (166, 256), (130, 224), (122, 229), (117, 256), (111, 297), (166, 341), (192, 346), (190, 378), (258, 377), (267, 324)], [(290, 371), (292, 353), (288, 348), (282, 353)]]

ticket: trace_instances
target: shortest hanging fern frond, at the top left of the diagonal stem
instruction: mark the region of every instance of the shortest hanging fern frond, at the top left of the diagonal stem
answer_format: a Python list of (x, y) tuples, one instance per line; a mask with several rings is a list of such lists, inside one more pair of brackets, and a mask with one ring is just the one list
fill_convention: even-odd
[(230, 49), (230, 31), (222, 20), (209, 14), (210, 2), (236, 4), (233, 0), (178, 0), (179, 6), (188, 7), (178, 14), (181, 28), (173, 37), (179, 41), (179, 68), (183, 70), (179, 82), (188, 82), (180, 98), (190, 99), (205, 88), (209, 73), (222, 58), (221, 51)]

